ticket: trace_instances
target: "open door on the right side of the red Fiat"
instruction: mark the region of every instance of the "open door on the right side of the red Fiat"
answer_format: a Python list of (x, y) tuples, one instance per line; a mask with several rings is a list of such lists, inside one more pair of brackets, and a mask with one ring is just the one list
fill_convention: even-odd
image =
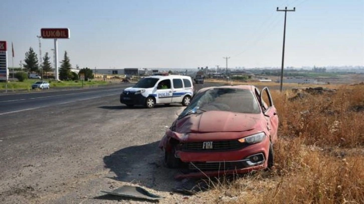
[[(266, 103), (264, 99), (268, 100), (268, 103)], [(260, 91), (260, 103), (264, 111), (264, 115), (267, 118), (268, 129), (271, 132), (271, 140), (274, 142), (277, 139), (278, 115), (268, 87), (264, 87)]]

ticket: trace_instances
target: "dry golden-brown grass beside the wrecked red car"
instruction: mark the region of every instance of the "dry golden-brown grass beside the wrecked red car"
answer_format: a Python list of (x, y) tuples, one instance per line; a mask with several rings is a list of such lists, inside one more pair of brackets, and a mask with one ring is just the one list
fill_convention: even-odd
[(275, 169), (201, 193), (216, 203), (364, 203), (364, 86), (271, 91), (280, 116)]

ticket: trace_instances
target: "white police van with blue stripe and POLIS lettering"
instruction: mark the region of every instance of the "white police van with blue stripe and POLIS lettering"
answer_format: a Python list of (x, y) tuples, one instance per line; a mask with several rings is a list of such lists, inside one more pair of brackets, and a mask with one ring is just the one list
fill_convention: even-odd
[(179, 102), (187, 106), (193, 96), (194, 86), (190, 76), (167, 75), (142, 78), (134, 86), (125, 88), (120, 102), (127, 106), (144, 105), (152, 108), (155, 104)]

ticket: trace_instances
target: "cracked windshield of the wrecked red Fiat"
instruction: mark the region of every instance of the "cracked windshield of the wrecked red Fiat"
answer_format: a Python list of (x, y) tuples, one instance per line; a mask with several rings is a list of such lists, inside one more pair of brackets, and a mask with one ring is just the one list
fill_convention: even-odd
[(247, 89), (212, 88), (197, 94), (190, 105), (179, 115), (184, 117), (197, 110), (222, 110), (242, 113), (260, 113), (259, 103)]

